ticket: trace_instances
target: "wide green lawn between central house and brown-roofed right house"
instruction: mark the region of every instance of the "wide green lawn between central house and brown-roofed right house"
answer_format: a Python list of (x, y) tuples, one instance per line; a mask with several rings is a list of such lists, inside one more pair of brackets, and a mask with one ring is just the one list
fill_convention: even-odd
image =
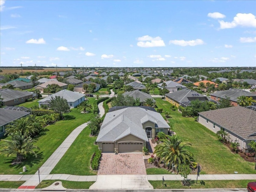
[[(172, 104), (168, 101), (160, 98), (155, 100), (158, 108), (170, 111), (172, 118), (168, 120), (172, 130), (180, 135), (185, 143), (192, 144), (190, 150), (194, 154), (195, 161), (202, 166), (202, 174), (233, 174), (234, 171), (239, 174), (256, 173), (255, 163), (245, 161), (239, 154), (233, 154), (229, 148), (219, 142), (218, 137), (211, 130), (194, 121), (194, 118), (182, 117), (177, 110), (171, 111)], [(162, 116), (165, 116), (164, 112)], [(146, 170), (148, 174), (157, 174), (151, 169)]]

